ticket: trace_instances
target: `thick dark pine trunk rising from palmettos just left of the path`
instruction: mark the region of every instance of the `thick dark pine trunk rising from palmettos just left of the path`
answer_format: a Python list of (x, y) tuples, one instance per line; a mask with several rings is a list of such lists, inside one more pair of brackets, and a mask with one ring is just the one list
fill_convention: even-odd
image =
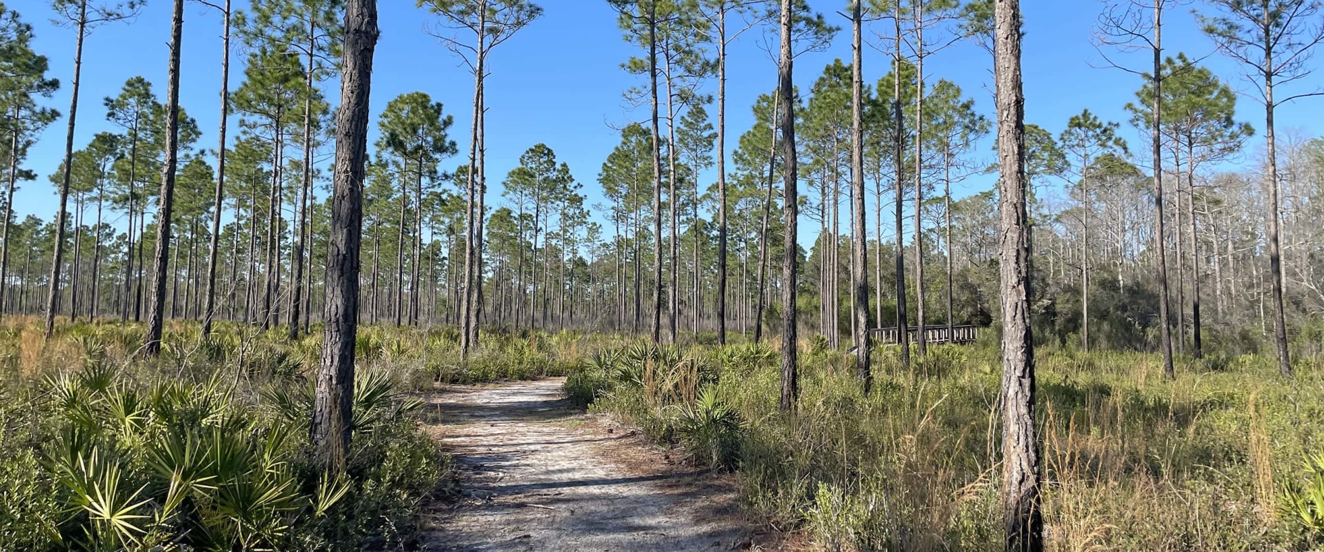
[(368, 152), (368, 98), (377, 44), (376, 0), (347, 0), (340, 110), (336, 114), (335, 180), (327, 255), (326, 330), (312, 404), (311, 441), (318, 461), (343, 473), (350, 454), (354, 349), (359, 326), (359, 246), (363, 176)]

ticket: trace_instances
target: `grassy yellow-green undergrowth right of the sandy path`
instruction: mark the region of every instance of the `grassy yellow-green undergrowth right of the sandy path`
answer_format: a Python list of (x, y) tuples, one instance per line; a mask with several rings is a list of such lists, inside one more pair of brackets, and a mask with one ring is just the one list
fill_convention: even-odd
[[(831, 551), (1001, 548), (996, 343), (931, 345), (911, 369), (801, 348), (801, 396), (779, 409), (779, 344), (602, 351), (567, 392), (732, 469), (747, 503)], [(1324, 379), (1271, 356), (1184, 359), (1038, 351), (1046, 539), (1057, 551), (1316, 549), (1324, 514)]]

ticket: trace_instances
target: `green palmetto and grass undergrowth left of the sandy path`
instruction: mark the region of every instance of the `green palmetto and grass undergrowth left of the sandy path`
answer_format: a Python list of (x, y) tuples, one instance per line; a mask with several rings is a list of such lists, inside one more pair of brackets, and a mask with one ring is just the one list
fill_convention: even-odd
[(156, 360), (143, 335), (97, 322), (46, 342), (40, 319), (0, 323), (0, 549), (416, 549), (421, 507), (453, 487), (418, 392), (569, 365), (536, 338), (494, 334), (461, 361), (454, 331), (364, 327), (334, 477), (308, 443), (320, 332), (173, 323)]

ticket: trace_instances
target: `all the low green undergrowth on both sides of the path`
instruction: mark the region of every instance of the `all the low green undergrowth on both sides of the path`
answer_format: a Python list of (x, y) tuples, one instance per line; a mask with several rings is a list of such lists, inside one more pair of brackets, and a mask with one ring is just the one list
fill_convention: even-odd
[[(931, 345), (903, 368), (801, 347), (779, 409), (779, 344), (653, 345), (605, 334), (364, 327), (343, 477), (307, 442), (320, 334), (220, 323), (79, 323), (44, 342), (0, 323), (0, 549), (410, 549), (418, 511), (453, 491), (413, 416), (438, 384), (569, 376), (567, 394), (695, 465), (731, 470), (749, 508), (833, 551), (998, 548), (996, 343)], [(1313, 343), (1313, 342), (1311, 342)], [(1266, 355), (1181, 359), (1038, 349), (1051, 549), (1307, 551), (1324, 529), (1324, 357), (1296, 380)], [(1311, 353), (1315, 352), (1312, 356)]]

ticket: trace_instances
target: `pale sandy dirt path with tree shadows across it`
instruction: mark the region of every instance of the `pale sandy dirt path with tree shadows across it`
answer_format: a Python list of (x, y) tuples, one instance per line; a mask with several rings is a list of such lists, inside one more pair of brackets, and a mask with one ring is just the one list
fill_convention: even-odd
[[(430, 429), (461, 471), (430, 551), (761, 548), (726, 478), (695, 473), (561, 398), (560, 379), (450, 388)], [(765, 549), (765, 548), (764, 548)]]

